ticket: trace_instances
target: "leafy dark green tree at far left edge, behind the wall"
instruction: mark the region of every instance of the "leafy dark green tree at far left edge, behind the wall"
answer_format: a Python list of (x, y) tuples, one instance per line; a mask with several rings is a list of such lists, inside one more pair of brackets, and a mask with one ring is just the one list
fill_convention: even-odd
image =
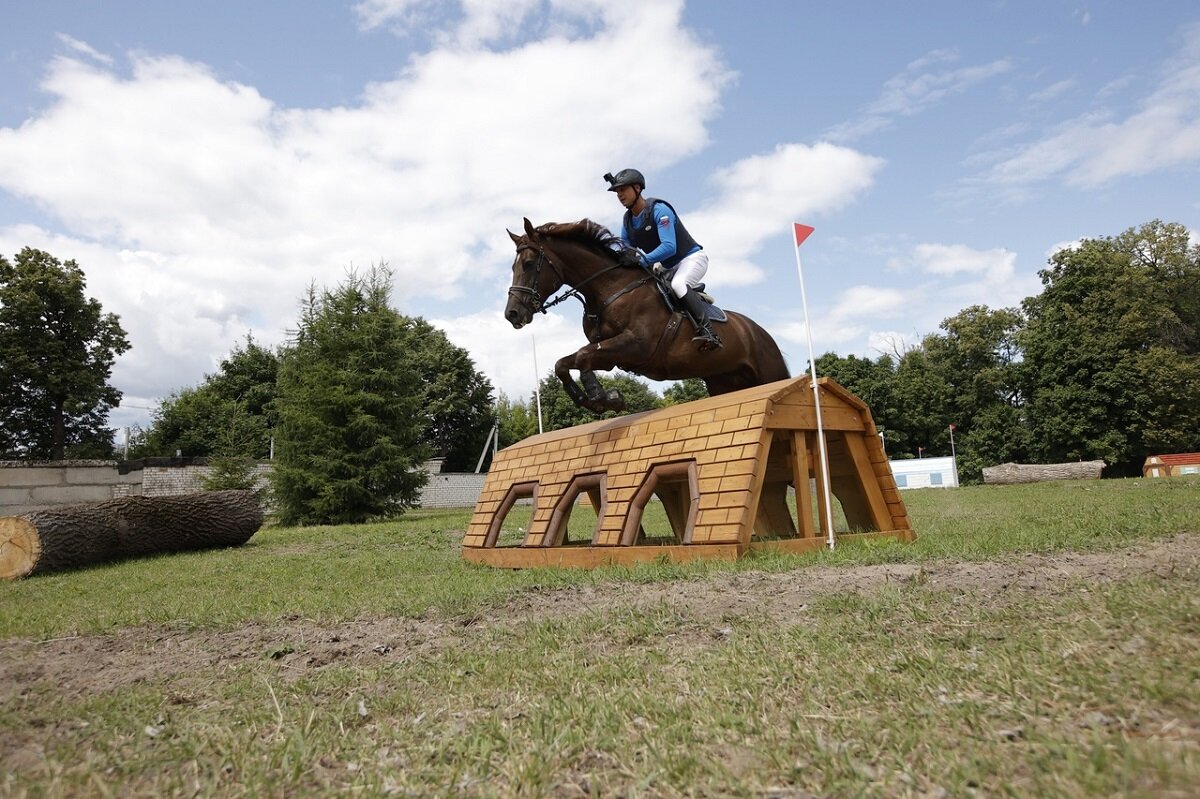
[(73, 260), (25, 247), (0, 256), (0, 455), (7, 458), (109, 457), (109, 385), (130, 349), (114, 313), (84, 294)]

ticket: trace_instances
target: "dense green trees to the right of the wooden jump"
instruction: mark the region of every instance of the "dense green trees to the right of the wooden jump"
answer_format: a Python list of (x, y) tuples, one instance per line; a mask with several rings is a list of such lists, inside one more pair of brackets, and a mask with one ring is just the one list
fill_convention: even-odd
[[(917, 346), (827, 354), (817, 371), (860, 396), (893, 457), (949, 455), (965, 480), (1006, 462), (1200, 450), (1200, 246), (1150, 222), (1056, 252), (1020, 307), (972, 306)], [(954, 425), (954, 429), (950, 429)]]

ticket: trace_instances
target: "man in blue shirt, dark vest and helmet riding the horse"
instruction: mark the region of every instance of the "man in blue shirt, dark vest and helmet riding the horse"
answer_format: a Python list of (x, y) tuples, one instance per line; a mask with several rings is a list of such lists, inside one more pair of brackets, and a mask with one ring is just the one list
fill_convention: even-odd
[(696, 244), (683, 227), (676, 210), (666, 200), (643, 197), (646, 179), (636, 169), (622, 169), (613, 176), (604, 176), (608, 191), (617, 192), (617, 199), (625, 206), (625, 220), (620, 226), (620, 239), (630, 247), (637, 247), (642, 266), (661, 263), (671, 275), (671, 290), (696, 324), (692, 341), (700, 347), (720, 347), (721, 340), (713, 332), (704, 301), (696, 292), (700, 280), (708, 271), (708, 254)]

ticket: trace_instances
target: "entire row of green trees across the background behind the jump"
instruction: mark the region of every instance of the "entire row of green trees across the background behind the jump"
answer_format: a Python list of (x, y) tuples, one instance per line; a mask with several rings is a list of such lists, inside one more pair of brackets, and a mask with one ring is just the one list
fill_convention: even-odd
[[(1138, 474), (1146, 455), (1200, 450), (1200, 247), (1154, 221), (1055, 253), (1019, 307), (972, 306), (940, 331), (876, 358), (827, 353), (817, 373), (871, 408), (892, 457), (949, 455), (965, 481), (1008, 461), (1103, 458)], [(83, 271), (48, 253), (0, 257), (0, 457), (108, 457), (108, 384), (128, 348), (114, 314), (86, 299)], [(493, 426), (502, 446), (595, 419), (548, 374), (510, 400), (469, 354), (388, 306), (373, 268), (310, 287), (298, 328), (271, 350), (253, 338), (217, 372), (163, 400), (131, 456), (199, 455), (229, 480), (274, 443), (276, 505), (289, 523), (350, 522), (410, 506), (440, 456), (474, 469)], [(628, 374), (625, 413), (707, 396), (684, 380), (662, 396)]]

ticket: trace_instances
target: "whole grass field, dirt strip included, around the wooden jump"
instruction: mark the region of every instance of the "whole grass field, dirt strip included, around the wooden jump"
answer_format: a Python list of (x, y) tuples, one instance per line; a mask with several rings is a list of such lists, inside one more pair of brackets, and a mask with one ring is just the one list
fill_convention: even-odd
[(1194, 795), (1200, 481), (904, 498), (737, 564), (490, 570), (464, 510), (4, 583), (0, 795)]

